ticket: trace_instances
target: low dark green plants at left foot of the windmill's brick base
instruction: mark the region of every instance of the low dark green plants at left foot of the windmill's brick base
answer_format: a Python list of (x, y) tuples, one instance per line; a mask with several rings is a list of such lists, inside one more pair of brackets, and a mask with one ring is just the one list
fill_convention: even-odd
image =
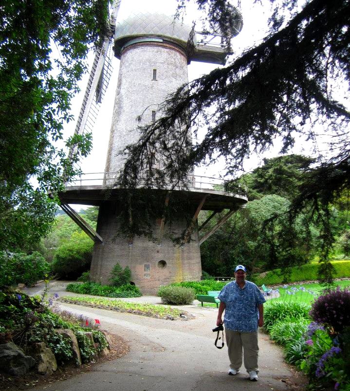
[(101, 285), (97, 282), (83, 282), (82, 284), (71, 283), (67, 285), (66, 291), (107, 298), (138, 298), (142, 296), (140, 289), (131, 284), (114, 287), (110, 285)]

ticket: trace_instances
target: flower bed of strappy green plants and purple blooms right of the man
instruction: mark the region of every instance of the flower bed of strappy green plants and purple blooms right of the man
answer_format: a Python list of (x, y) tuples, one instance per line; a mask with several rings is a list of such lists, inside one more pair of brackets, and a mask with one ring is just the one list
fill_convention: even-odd
[(308, 375), (310, 390), (349, 391), (350, 290), (284, 285), (279, 292), (265, 304), (264, 327), (286, 361)]

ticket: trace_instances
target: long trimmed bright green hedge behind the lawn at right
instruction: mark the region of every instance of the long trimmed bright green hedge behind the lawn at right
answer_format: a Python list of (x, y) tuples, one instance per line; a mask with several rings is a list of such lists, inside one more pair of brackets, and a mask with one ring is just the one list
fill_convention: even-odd
[[(350, 278), (350, 261), (332, 261), (334, 266), (335, 278)], [(283, 282), (309, 281), (317, 279), (318, 263), (307, 263), (301, 266), (292, 267), (292, 273), (288, 281), (284, 281), (284, 277), (280, 274), (281, 270), (276, 269), (267, 273), (261, 273), (254, 276), (254, 282), (260, 286), (276, 285)]]

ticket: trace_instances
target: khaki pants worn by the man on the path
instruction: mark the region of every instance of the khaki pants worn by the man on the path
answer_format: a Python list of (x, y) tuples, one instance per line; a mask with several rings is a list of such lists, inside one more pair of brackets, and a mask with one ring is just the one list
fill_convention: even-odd
[(225, 329), (225, 333), (231, 369), (239, 370), (243, 354), (244, 367), (247, 372), (256, 371), (258, 373), (258, 331), (241, 333)]

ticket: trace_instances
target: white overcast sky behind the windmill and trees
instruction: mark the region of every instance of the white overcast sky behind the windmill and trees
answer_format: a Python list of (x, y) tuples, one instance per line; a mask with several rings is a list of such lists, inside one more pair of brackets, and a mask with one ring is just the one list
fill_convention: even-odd
[[(269, 10), (264, 9), (260, 5), (255, 5), (252, 7), (251, 0), (241, 1), (240, 11), (243, 17), (243, 28), (237, 37), (234, 37), (232, 40), (232, 47), (236, 55), (242, 52), (245, 48), (251, 47), (254, 44), (258, 44), (261, 39), (265, 36), (267, 29), (267, 18), (269, 15)], [(122, 0), (121, 7), (118, 13), (117, 21), (125, 19), (130, 13), (138, 11), (148, 11), (152, 9), (156, 10), (158, 13), (167, 13), (173, 14), (176, 9), (177, 2), (175, 0)], [(196, 14), (196, 8), (189, 6), (187, 10), (187, 21), (191, 24), (192, 20), (198, 20), (198, 15)], [(200, 26), (200, 23), (197, 24)], [(234, 57), (233, 55), (232, 57)], [(93, 56), (91, 56), (90, 61), (92, 62)], [(99, 115), (95, 122), (94, 130), (92, 132), (92, 152), (81, 162), (81, 168), (84, 173), (89, 172), (103, 172), (106, 163), (107, 147), (109, 141), (109, 134), (111, 129), (111, 118), (114, 105), (114, 95), (116, 90), (117, 78), (118, 78), (118, 69), (119, 69), (119, 60), (113, 58), (113, 72), (111, 75), (111, 80), (107, 93), (102, 101), (102, 105), (99, 110)], [(210, 72), (215, 69), (218, 65), (216, 64), (207, 64), (200, 62), (191, 62), (188, 66), (188, 78), (189, 81)], [(89, 70), (90, 71), (90, 70)], [(77, 94), (72, 102), (72, 113), (74, 117), (77, 118), (81, 102), (83, 99), (83, 94), (85, 92), (85, 86), (87, 82), (88, 74), (80, 82), (81, 93)], [(73, 135), (75, 128), (75, 121), (67, 124), (65, 127), (65, 135), (68, 137)], [(250, 171), (262, 163), (263, 157), (273, 157), (278, 155), (279, 143), (276, 142), (275, 148), (268, 152), (266, 155), (261, 156), (252, 156), (246, 163), (245, 170)], [(209, 167), (200, 167), (195, 169), (196, 175), (205, 175), (205, 176), (222, 176), (225, 173), (225, 165), (222, 160), (212, 161)], [(79, 210), (80, 205), (72, 205), (76, 210)]]

